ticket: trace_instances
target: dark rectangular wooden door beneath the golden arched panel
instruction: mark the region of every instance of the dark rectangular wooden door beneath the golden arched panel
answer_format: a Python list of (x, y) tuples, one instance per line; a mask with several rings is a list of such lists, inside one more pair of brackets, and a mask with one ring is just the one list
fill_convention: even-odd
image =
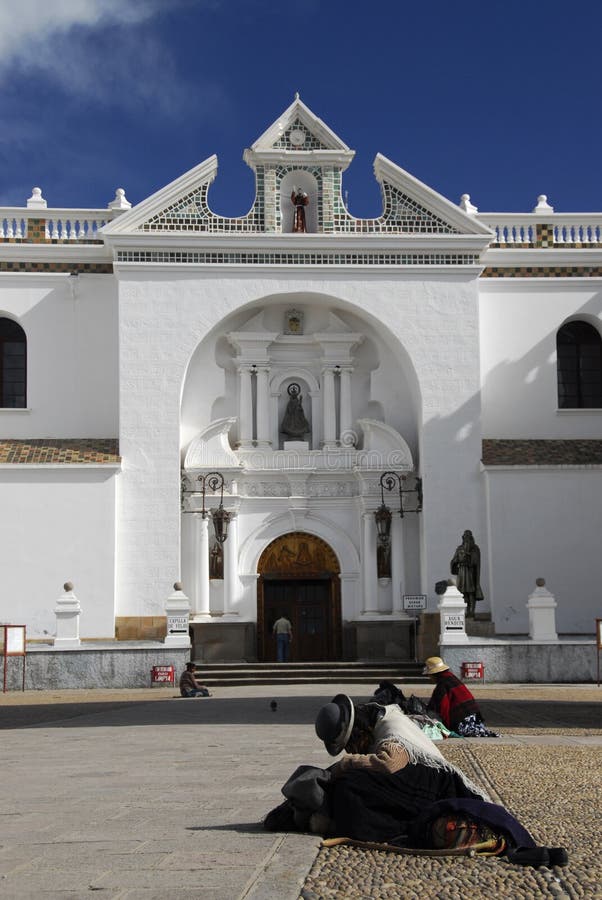
[(330, 578), (265, 579), (263, 582), (263, 658), (276, 659), (274, 622), (286, 616), (293, 626), (290, 662), (332, 658), (332, 583)]

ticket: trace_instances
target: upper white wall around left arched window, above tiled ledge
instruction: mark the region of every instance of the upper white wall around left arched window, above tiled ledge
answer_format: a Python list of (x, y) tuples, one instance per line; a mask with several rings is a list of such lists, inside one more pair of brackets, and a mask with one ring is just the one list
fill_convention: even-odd
[(0, 274), (0, 315), (27, 337), (27, 410), (0, 410), (0, 437), (117, 437), (115, 279)]

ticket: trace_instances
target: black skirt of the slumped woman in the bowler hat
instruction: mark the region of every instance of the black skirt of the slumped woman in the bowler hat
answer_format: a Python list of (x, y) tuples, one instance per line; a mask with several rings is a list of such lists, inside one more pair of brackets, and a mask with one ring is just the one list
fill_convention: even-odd
[(388, 841), (408, 833), (426, 807), (452, 797), (482, 799), (455, 772), (409, 764), (388, 775), (362, 769), (335, 778), (330, 787), (338, 837)]

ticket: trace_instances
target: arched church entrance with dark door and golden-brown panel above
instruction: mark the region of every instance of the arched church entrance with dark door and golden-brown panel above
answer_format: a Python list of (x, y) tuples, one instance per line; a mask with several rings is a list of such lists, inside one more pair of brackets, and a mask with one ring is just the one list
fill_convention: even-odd
[(332, 547), (313, 534), (292, 531), (265, 548), (257, 571), (258, 659), (276, 659), (272, 627), (281, 614), (293, 626), (291, 662), (340, 659), (340, 568)]

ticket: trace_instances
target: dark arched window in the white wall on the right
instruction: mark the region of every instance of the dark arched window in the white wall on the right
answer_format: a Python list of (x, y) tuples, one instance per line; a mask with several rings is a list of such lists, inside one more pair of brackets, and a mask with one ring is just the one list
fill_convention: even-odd
[(602, 407), (602, 338), (587, 322), (568, 322), (556, 335), (559, 409)]

